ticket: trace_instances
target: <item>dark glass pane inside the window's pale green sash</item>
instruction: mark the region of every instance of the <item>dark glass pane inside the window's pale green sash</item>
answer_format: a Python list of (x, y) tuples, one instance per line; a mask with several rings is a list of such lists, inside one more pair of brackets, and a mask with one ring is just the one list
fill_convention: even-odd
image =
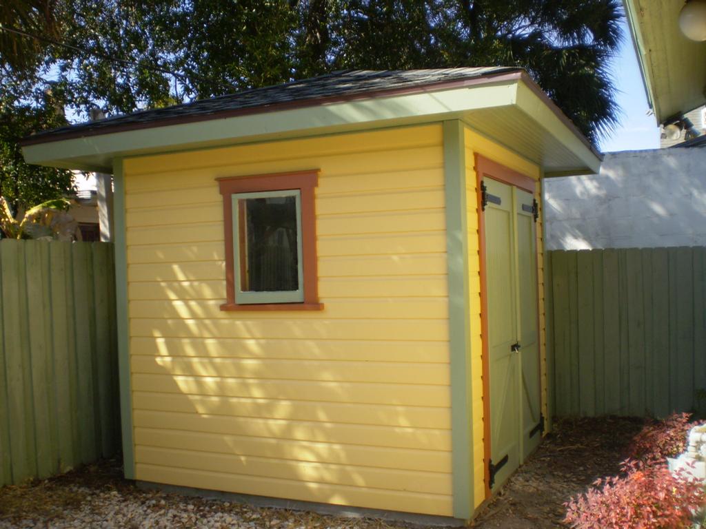
[(297, 197), (238, 200), (242, 292), (299, 290)]

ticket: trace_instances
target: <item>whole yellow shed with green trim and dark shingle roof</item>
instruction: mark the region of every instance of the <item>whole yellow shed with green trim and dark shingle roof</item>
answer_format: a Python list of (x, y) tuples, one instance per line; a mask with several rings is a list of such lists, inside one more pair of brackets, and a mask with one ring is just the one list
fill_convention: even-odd
[(542, 178), (600, 157), (524, 71), (335, 72), (23, 152), (114, 175), (127, 478), (468, 520), (539, 444)]

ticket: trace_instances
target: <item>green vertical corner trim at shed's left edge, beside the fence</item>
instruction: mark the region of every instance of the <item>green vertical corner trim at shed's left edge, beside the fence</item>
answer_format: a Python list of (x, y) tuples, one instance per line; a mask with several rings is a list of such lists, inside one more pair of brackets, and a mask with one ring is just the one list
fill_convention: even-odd
[(128, 330), (128, 260), (125, 240), (125, 181), (123, 160), (113, 162), (113, 221), (115, 243), (115, 303), (118, 327), (118, 371), (120, 377), (120, 417), (123, 435), (123, 468), (128, 480), (135, 479), (132, 385), (130, 381), (130, 335)]

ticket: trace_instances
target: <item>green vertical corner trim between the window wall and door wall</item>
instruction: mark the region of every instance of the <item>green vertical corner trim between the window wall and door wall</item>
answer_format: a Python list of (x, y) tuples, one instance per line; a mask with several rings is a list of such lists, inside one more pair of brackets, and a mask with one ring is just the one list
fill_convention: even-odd
[(470, 362), (468, 233), (464, 126), (443, 122), (448, 319), (451, 353), (453, 516), (473, 516), (473, 408)]

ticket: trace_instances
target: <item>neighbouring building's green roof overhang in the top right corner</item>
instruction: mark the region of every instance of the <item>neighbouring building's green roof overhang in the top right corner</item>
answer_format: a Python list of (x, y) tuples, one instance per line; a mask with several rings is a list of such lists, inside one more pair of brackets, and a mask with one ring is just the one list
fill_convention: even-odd
[(706, 43), (679, 29), (684, 0), (624, 0), (650, 107), (659, 123), (706, 103)]

